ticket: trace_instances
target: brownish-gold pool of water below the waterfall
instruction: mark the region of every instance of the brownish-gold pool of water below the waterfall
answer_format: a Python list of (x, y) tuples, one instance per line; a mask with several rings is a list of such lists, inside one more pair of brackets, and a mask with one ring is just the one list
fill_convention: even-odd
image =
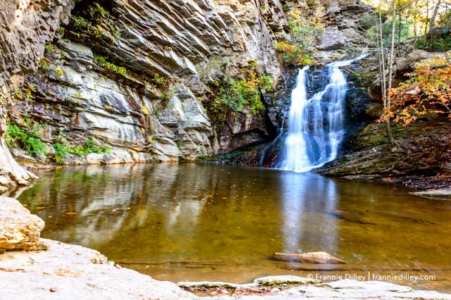
[[(42, 237), (97, 249), (159, 280), (362, 276), (451, 292), (451, 202), (402, 187), (194, 163), (37, 175), (15, 196), (45, 220)], [(310, 251), (348, 263), (273, 260)]]

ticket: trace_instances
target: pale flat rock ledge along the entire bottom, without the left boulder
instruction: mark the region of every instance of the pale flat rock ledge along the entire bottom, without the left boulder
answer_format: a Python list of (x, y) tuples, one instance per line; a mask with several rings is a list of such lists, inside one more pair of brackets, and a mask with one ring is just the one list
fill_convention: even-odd
[[(184, 282), (190, 287), (296, 287), (265, 296), (197, 297), (172, 282), (161, 282), (120, 268), (98, 251), (44, 239), (47, 251), (7, 251), (0, 254), (1, 299), (450, 299), (451, 294), (415, 291), (387, 282), (340, 280), (326, 285), (295, 276), (264, 277), (247, 285), (224, 282)], [(282, 289), (282, 288), (280, 288)], [(274, 289), (272, 289), (274, 290)], [(276, 289), (277, 290), (277, 289)]]

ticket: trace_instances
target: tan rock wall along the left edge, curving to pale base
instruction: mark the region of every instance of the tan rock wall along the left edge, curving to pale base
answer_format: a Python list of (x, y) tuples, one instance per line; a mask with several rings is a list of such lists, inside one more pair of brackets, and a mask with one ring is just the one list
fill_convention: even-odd
[(68, 23), (73, 5), (73, 0), (0, 1), (0, 191), (35, 177), (20, 168), (4, 143), (6, 113), (11, 94), (22, 85), (25, 73), (37, 70), (44, 45)]

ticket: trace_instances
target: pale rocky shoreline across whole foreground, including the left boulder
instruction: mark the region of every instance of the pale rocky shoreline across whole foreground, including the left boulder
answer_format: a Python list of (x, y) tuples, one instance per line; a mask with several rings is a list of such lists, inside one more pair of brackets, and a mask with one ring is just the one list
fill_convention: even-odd
[(0, 197), (0, 214), (11, 212), (17, 218), (0, 218), (2, 299), (451, 299), (451, 294), (348, 279), (323, 283), (273, 276), (244, 285), (162, 282), (121, 268), (99, 251), (40, 239), (43, 221), (17, 200)]

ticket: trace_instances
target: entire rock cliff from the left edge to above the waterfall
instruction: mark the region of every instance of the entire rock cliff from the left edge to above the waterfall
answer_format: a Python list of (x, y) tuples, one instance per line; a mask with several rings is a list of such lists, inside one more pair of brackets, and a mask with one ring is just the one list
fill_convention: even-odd
[[(320, 46), (323, 60), (356, 40), (332, 37), (335, 29), (354, 28), (352, 12), (364, 10), (359, 1), (316, 2), (3, 0), (0, 133), (8, 111), (9, 123), (39, 132), (48, 156), (32, 159), (47, 163), (61, 154), (51, 146), (58, 143), (109, 149), (64, 154), (67, 163), (121, 163), (192, 159), (266, 142), (287, 107), (290, 87), (273, 45), (288, 35), (288, 13), (333, 20), (328, 44)], [(272, 92), (261, 89), (262, 109), (212, 106), (228, 76), (249, 73), (273, 82)], [(12, 159), (0, 159), (0, 167), (12, 170), (0, 186), (32, 179)]]

